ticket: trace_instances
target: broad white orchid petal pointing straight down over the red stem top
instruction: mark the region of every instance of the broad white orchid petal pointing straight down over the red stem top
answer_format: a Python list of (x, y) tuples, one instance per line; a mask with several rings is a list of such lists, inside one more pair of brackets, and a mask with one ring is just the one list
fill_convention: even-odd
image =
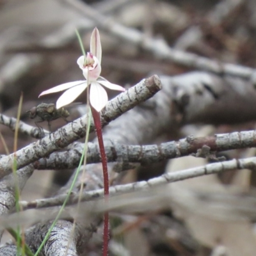
[(96, 111), (100, 111), (108, 102), (108, 94), (97, 82), (93, 82), (90, 88), (90, 104)]

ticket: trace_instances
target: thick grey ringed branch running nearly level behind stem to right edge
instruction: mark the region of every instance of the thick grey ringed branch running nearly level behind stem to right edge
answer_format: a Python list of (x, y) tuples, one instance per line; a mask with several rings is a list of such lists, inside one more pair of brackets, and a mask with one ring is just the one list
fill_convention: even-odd
[[(108, 163), (149, 164), (182, 156), (211, 157), (215, 152), (238, 148), (256, 147), (256, 132), (243, 131), (216, 134), (207, 137), (188, 136), (179, 141), (170, 141), (160, 145), (118, 145), (105, 147)], [(56, 152), (47, 159), (39, 159), (33, 165), (36, 169), (72, 169), (76, 168), (83, 152), (83, 143), (66, 152)], [(86, 163), (100, 163), (99, 146), (88, 144)], [(122, 171), (122, 170), (121, 170)]]

